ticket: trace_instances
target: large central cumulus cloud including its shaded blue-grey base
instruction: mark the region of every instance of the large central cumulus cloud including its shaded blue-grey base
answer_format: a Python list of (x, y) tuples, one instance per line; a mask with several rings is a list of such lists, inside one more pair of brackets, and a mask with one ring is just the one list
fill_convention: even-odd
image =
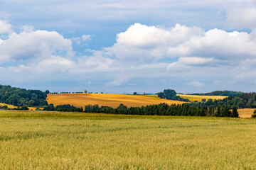
[(204, 31), (197, 27), (176, 24), (171, 28), (145, 26), (134, 23), (125, 32), (117, 34), (117, 42), (105, 48), (105, 55), (129, 62), (151, 62), (166, 57), (167, 50)]

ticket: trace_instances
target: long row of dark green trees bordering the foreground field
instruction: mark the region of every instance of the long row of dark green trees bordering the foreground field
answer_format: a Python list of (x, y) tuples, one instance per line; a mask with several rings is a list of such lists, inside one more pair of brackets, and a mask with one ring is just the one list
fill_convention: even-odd
[(109, 113), (109, 114), (123, 114), (123, 115), (190, 115), (190, 116), (217, 116), (217, 117), (233, 117), (238, 118), (238, 109), (233, 107), (233, 111), (230, 111), (228, 106), (190, 106), (188, 103), (182, 105), (167, 105), (161, 103), (159, 105), (150, 105), (142, 107), (127, 108), (123, 104), (120, 104), (117, 108), (98, 105), (85, 106), (85, 113)]

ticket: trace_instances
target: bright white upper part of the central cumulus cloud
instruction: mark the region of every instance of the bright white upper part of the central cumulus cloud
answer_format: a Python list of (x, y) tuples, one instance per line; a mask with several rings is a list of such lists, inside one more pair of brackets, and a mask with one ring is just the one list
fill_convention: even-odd
[(117, 34), (117, 44), (130, 47), (158, 47), (177, 45), (191, 36), (202, 35), (203, 30), (197, 27), (188, 28), (176, 24), (174, 28), (145, 26), (134, 23), (124, 33)]

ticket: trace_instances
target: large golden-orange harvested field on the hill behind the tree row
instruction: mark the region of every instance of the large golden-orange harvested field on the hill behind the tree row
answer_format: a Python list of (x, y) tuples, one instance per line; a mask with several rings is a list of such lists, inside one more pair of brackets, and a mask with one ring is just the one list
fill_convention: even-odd
[(48, 94), (47, 102), (54, 106), (70, 104), (84, 108), (86, 105), (110, 106), (117, 108), (120, 103), (127, 107), (147, 106), (159, 103), (182, 104), (182, 101), (171, 101), (157, 98), (155, 95), (128, 95), (128, 94)]

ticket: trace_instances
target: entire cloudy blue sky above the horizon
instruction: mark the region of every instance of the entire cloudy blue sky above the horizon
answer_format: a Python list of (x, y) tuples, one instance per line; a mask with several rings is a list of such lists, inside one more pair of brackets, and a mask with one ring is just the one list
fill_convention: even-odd
[(256, 91), (256, 1), (0, 0), (0, 84)]

